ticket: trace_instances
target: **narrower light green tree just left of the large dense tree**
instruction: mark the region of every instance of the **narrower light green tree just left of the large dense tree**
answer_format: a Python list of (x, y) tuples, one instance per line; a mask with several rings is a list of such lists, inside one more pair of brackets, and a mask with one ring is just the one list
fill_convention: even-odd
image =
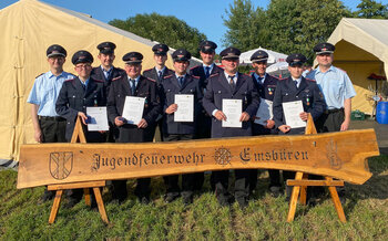
[(265, 33), (265, 12), (254, 8), (251, 0), (234, 0), (229, 9), (225, 10), (224, 45), (233, 45), (242, 51), (266, 45), (268, 35)]

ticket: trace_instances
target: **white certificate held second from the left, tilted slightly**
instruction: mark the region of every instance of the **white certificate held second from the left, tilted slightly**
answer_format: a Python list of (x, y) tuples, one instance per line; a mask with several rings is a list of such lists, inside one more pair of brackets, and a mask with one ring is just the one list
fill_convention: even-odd
[(126, 124), (137, 125), (143, 117), (145, 98), (126, 96), (124, 102), (123, 117)]

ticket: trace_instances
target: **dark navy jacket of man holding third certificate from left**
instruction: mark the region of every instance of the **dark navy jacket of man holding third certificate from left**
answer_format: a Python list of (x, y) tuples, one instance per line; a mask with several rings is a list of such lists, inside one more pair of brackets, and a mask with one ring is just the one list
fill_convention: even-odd
[[(202, 106), (202, 93), (198, 85), (200, 78), (186, 74), (183, 85), (180, 86), (175, 74), (165, 76), (162, 81), (163, 99), (163, 133), (165, 134), (195, 134), (195, 123)], [(194, 122), (174, 122), (174, 114), (166, 114), (166, 108), (175, 103), (175, 94), (194, 95)]]

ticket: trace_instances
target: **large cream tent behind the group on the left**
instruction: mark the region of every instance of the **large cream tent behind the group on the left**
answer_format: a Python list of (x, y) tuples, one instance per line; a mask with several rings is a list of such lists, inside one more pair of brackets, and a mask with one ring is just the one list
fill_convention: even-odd
[[(121, 57), (137, 51), (144, 55), (143, 70), (154, 66), (152, 46), (155, 42), (120, 30), (88, 14), (74, 12), (38, 0), (20, 0), (0, 10), (0, 62), (2, 96), (0, 112), (0, 159), (19, 159), (21, 144), (34, 143), (30, 117), (31, 105), (27, 103), (37, 75), (49, 71), (45, 50), (61, 44), (68, 51), (64, 71), (74, 73), (71, 56), (78, 50), (93, 54), (96, 45), (112, 41), (118, 45), (114, 64), (123, 67)], [(171, 56), (166, 63), (172, 67)]]

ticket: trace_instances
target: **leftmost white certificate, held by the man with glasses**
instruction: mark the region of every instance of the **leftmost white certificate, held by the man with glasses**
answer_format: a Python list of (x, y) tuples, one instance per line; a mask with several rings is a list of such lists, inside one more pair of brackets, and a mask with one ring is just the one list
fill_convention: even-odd
[(86, 107), (88, 130), (109, 130), (106, 107)]

